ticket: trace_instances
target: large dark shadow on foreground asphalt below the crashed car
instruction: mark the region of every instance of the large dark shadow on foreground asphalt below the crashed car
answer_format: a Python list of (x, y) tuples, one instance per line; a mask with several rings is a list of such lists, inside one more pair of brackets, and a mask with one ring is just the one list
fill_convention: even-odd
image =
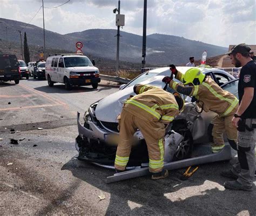
[(105, 179), (113, 171), (83, 161), (70, 160), (62, 170), (70, 170), (74, 177), (110, 193), (106, 215), (255, 214), (255, 192), (230, 191), (221, 186), (230, 179), (219, 173), (229, 167), (226, 162), (201, 165), (186, 181), (179, 179), (184, 169), (171, 171), (169, 177), (157, 181), (141, 177), (112, 184), (106, 184)]

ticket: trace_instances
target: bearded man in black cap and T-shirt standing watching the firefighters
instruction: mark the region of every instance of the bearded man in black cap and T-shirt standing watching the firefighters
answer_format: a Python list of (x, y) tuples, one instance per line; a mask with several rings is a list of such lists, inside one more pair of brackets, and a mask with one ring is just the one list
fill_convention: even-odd
[(226, 55), (232, 64), (242, 66), (238, 83), (239, 107), (232, 124), (238, 129), (238, 163), (222, 176), (236, 179), (226, 181), (224, 187), (231, 190), (252, 191), (255, 173), (256, 141), (256, 64), (250, 57), (250, 46), (239, 44)]

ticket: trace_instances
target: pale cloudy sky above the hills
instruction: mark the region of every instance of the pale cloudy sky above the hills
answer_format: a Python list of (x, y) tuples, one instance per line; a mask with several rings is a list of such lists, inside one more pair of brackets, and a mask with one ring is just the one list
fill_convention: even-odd
[[(45, 29), (61, 34), (117, 29), (118, 0), (70, 0), (53, 8), (67, 1), (44, 0)], [(0, 17), (43, 28), (41, 6), (42, 0), (0, 0)], [(143, 0), (120, 0), (122, 31), (143, 35), (143, 6)], [(225, 47), (256, 44), (255, 0), (147, 0), (147, 35), (152, 33)]]

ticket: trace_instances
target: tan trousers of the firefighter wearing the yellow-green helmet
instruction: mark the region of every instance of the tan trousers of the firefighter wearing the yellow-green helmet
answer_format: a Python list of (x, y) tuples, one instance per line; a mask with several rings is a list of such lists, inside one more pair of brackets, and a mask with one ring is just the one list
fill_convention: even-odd
[(225, 146), (223, 134), (226, 133), (227, 139), (233, 140), (237, 144), (237, 129), (232, 124), (233, 113), (226, 117), (216, 116), (212, 119), (211, 124), (213, 124), (212, 136), (213, 143), (212, 152), (219, 152)]

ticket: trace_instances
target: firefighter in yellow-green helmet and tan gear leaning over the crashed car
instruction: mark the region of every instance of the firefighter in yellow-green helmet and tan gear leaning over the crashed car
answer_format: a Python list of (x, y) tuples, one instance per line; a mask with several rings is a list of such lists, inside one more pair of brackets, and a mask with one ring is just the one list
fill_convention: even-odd
[(238, 99), (232, 93), (221, 89), (210, 76), (205, 76), (198, 68), (188, 69), (184, 75), (175, 65), (170, 65), (170, 70), (172, 76), (174, 74), (176, 79), (188, 86), (174, 82), (171, 77), (165, 77), (163, 82), (169, 83), (172, 89), (183, 95), (196, 97), (198, 106), (205, 112), (213, 111), (218, 114), (208, 128), (212, 152), (216, 153), (224, 148), (224, 132), (233, 149), (237, 149), (237, 129), (231, 124), (231, 120), (238, 109)]

